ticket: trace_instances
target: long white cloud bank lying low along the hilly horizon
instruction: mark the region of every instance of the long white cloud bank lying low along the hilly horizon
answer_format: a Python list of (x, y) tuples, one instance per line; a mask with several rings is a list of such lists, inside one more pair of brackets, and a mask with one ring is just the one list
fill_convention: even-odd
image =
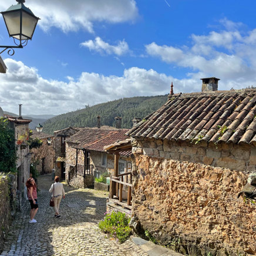
[(19, 103), (23, 104), (23, 113), (58, 114), (122, 97), (164, 95), (174, 80), (153, 69), (134, 67), (125, 69), (123, 76), (83, 72), (78, 79), (67, 76), (64, 82), (46, 80), (35, 68), (13, 59), (5, 59), (5, 63), (8, 71), (0, 74), (0, 106), (14, 113)]

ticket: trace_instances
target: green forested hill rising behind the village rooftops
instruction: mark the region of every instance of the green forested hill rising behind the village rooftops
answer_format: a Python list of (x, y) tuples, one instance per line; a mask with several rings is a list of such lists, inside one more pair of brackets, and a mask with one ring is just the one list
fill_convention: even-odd
[(48, 119), (43, 124), (43, 132), (53, 134), (69, 126), (97, 126), (97, 116), (100, 116), (102, 126), (115, 126), (114, 117), (122, 117), (122, 128), (131, 128), (134, 117), (144, 118), (151, 112), (159, 109), (167, 102), (167, 95), (150, 97), (130, 97), (112, 102), (87, 106), (85, 109), (60, 114)]

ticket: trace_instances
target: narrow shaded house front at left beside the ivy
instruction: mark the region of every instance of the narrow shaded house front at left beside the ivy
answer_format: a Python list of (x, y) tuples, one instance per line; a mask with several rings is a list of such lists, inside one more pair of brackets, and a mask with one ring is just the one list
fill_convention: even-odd
[[(15, 140), (17, 146), (17, 189), (21, 193), (22, 197), (26, 198), (26, 180), (29, 178), (29, 170), (30, 170), (30, 153), (29, 146), (26, 143), (29, 136), (29, 123), (32, 120), (23, 119), (21, 114), (19, 117), (13, 117), (9, 115), (4, 115), (9, 121), (9, 127), (14, 130)], [(19, 193), (18, 193), (19, 194)]]

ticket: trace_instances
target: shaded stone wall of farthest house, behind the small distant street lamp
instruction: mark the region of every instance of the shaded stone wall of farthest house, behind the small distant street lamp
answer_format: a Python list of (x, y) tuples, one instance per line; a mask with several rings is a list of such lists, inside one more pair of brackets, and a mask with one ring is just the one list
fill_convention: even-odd
[(52, 137), (52, 143), (48, 145), (47, 138), (41, 138), (43, 144), (37, 149), (31, 149), (31, 163), (37, 162), (36, 170), (41, 174), (52, 173), (54, 168), (54, 157), (55, 149), (53, 145), (55, 144), (54, 137)]

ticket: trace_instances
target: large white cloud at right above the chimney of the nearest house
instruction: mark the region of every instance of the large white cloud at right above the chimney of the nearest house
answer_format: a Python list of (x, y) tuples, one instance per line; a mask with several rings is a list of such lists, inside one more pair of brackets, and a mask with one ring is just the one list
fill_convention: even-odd
[(190, 68), (193, 71), (190, 76), (216, 76), (221, 80), (233, 81), (234, 84), (241, 78), (255, 79), (256, 29), (238, 31), (242, 27), (241, 23), (227, 19), (221, 23), (226, 30), (211, 31), (208, 35), (191, 35), (191, 46), (174, 47), (153, 42), (145, 46), (146, 52), (171, 65)]

